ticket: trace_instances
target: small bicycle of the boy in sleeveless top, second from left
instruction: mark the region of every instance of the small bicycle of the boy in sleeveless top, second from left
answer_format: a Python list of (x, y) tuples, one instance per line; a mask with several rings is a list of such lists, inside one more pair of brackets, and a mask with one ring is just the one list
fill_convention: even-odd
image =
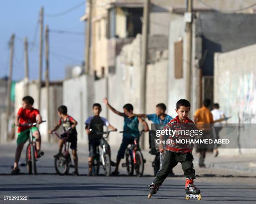
[(69, 154), (69, 144), (70, 142), (67, 141), (69, 138), (69, 130), (72, 127), (69, 127), (66, 132), (62, 134), (67, 134), (67, 137), (61, 137), (60, 134), (58, 134), (56, 131), (53, 131), (52, 133), (55, 134), (59, 139), (64, 141), (62, 153), (54, 156), (54, 168), (56, 170), (56, 173), (63, 176), (69, 174), (69, 169), (72, 166), (71, 157)]

